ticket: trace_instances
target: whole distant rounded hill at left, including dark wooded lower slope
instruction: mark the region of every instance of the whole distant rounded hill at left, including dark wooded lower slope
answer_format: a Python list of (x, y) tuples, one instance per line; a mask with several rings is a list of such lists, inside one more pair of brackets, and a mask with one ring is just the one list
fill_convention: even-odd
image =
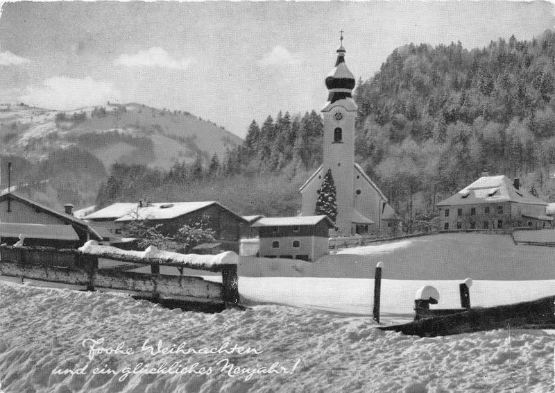
[(24, 196), (58, 208), (86, 206), (116, 162), (160, 171), (197, 159), (207, 166), (240, 143), (237, 135), (189, 112), (137, 103), (68, 112), (1, 104), (0, 190), (8, 186), (11, 161), (12, 185)]

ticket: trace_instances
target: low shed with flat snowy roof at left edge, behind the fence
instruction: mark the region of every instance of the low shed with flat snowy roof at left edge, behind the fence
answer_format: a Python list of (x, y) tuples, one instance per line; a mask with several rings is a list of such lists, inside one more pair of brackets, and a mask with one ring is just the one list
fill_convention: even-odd
[(71, 225), (0, 223), (0, 243), (12, 246), (23, 235), (25, 246), (76, 249), (79, 236)]

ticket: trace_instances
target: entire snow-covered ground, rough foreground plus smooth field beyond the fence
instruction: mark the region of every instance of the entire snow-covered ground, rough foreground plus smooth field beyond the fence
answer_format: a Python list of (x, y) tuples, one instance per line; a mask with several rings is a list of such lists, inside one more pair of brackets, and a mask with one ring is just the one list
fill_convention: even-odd
[[(182, 312), (124, 295), (0, 281), (0, 390), (555, 392), (555, 335), (545, 331), (419, 339), (375, 329), (370, 314), (379, 260), (382, 324), (413, 319), (414, 294), (423, 285), (440, 293), (432, 307), (459, 307), (459, 283), (466, 277), (474, 281), (472, 307), (555, 294), (553, 249), (475, 234), (345, 249), (318, 263), (243, 258), (239, 292), (252, 307), (246, 312)], [(161, 273), (178, 271), (162, 267)], [(221, 280), (217, 274), (205, 278)], [(104, 339), (96, 347), (105, 351), (89, 360), (82, 345), (87, 339)], [(173, 349), (186, 342), (185, 350), (152, 354), (142, 351), (145, 340), (145, 347), (162, 340)], [(187, 350), (225, 342), (257, 353)], [(105, 353), (120, 344), (122, 353)], [(225, 367), (231, 362), (239, 369)], [(83, 375), (56, 374), (65, 369)]]

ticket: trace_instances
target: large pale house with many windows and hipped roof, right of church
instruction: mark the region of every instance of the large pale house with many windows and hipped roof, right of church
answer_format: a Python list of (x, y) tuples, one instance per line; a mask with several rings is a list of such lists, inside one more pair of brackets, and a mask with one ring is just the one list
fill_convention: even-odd
[(546, 202), (520, 189), (518, 178), (487, 173), (436, 206), (444, 230), (551, 228), (554, 218), (546, 215)]

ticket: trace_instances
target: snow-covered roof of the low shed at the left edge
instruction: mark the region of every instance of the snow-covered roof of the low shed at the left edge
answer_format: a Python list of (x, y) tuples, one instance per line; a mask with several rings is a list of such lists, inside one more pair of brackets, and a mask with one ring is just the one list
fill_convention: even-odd
[(79, 240), (71, 225), (0, 222), (0, 237), (19, 237), (19, 235), (24, 235), (26, 239)]

